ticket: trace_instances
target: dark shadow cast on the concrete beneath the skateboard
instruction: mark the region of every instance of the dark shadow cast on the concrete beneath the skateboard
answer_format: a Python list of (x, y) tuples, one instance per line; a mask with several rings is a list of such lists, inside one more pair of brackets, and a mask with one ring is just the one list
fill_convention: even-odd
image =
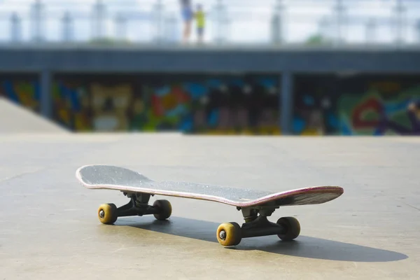
[[(218, 243), (216, 229), (219, 223), (172, 216), (169, 221), (157, 221), (151, 219), (151, 217), (142, 217), (140, 219), (121, 218), (118, 219), (116, 226), (121, 225)], [(294, 241), (281, 241), (276, 236), (251, 237), (242, 239), (238, 246), (226, 248), (239, 251), (258, 250), (302, 258), (353, 262), (391, 262), (408, 258), (407, 255), (394, 251), (302, 235)]]

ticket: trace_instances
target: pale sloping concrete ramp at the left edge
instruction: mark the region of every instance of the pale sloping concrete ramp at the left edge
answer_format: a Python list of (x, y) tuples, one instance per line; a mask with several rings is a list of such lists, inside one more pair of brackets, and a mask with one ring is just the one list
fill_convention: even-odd
[(0, 97), (0, 133), (27, 132), (69, 133), (35, 112)]

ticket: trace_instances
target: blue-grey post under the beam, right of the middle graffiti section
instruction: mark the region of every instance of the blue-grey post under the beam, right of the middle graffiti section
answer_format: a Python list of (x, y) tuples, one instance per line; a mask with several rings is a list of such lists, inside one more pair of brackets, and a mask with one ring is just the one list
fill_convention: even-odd
[(292, 134), (293, 121), (293, 74), (286, 70), (281, 74), (280, 97), (280, 124), (282, 134)]

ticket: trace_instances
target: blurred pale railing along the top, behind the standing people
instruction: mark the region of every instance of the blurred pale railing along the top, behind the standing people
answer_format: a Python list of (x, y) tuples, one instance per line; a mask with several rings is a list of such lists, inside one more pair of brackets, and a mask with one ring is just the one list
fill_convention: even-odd
[[(416, 0), (195, 3), (212, 45), (420, 45)], [(178, 0), (0, 0), (1, 43), (177, 44), (182, 29)]]

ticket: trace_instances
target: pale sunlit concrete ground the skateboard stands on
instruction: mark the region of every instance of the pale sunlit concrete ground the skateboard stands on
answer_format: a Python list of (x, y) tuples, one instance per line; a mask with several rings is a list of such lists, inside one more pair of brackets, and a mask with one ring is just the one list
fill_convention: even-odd
[[(418, 137), (2, 134), (0, 279), (419, 279), (419, 158)], [(272, 221), (299, 219), (296, 241), (255, 237), (224, 248), (216, 228), (242, 216), (216, 202), (169, 197), (167, 223), (102, 225), (99, 204), (127, 198), (76, 181), (76, 169), (94, 163), (155, 180), (337, 185), (344, 195), (275, 211)]]

